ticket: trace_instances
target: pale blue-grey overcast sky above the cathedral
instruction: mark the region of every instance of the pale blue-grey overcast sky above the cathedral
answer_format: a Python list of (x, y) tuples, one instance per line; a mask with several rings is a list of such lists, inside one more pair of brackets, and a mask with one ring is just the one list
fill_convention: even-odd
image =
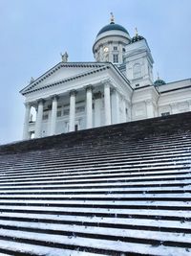
[(154, 76), (191, 77), (190, 0), (0, 0), (0, 144), (22, 138), (24, 97), (19, 91), (60, 61), (93, 61), (98, 31), (116, 23), (143, 35)]

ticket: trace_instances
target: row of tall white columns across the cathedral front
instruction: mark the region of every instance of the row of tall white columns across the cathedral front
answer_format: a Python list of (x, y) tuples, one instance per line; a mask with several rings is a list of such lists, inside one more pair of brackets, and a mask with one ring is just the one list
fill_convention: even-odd
[[(86, 128), (93, 128), (93, 86), (88, 85), (85, 87), (86, 91)], [(104, 125), (109, 126), (112, 123), (117, 124), (119, 123), (119, 100), (118, 100), (118, 93), (116, 89), (112, 89), (112, 97), (111, 98), (111, 84), (109, 82), (105, 82), (103, 84), (103, 93), (104, 93)], [(69, 111), (69, 131), (74, 131), (75, 125), (75, 102), (76, 102), (76, 90), (72, 90), (70, 92), (70, 111)], [(96, 99), (96, 96), (94, 97)], [(100, 96), (97, 97), (98, 99), (95, 100), (95, 112), (98, 118), (100, 118)], [(58, 105), (59, 95), (53, 95), (52, 97), (52, 111), (50, 116), (50, 134), (55, 134), (56, 128), (56, 116), (57, 116), (57, 105)], [(49, 99), (50, 100), (50, 99)], [(98, 101), (97, 101), (98, 100)], [(111, 101), (113, 101), (115, 115), (112, 116), (112, 109), (111, 109)], [(37, 112), (36, 112), (36, 121), (35, 121), (35, 128), (34, 128), (34, 137), (39, 138), (41, 137), (41, 130), (42, 130), (42, 120), (43, 120), (43, 105), (45, 99), (40, 99), (37, 101)], [(30, 113), (31, 113), (31, 104), (27, 103), (26, 112), (25, 112), (25, 121), (24, 121), (24, 130), (23, 130), (23, 139), (29, 139), (29, 122), (30, 122)], [(124, 106), (125, 111), (125, 106)], [(124, 113), (125, 115), (125, 113)], [(124, 117), (125, 118), (125, 117)], [(125, 120), (124, 120), (125, 122)], [(95, 127), (99, 127), (100, 121), (95, 120)]]

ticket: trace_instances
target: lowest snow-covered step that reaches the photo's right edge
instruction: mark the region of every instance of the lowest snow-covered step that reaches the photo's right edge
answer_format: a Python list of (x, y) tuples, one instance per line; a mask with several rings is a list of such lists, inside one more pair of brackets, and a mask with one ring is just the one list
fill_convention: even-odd
[[(12, 237), (13, 235), (13, 237)], [(140, 244), (140, 243), (126, 243), (120, 241), (108, 241), (103, 239), (91, 239), (91, 238), (81, 238), (73, 236), (61, 236), (61, 235), (51, 235), (51, 234), (40, 234), (26, 232), (26, 231), (17, 231), (15, 230), (12, 234), (11, 230), (0, 229), (0, 237), (4, 237), (6, 240), (17, 241), (17, 242), (27, 242), (32, 244), (40, 244), (45, 246), (54, 245), (55, 248), (67, 248), (73, 247), (75, 250), (83, 250), (86, 252), (103, 252), (104, 254), (114, 255), (115, 252), (124, 252), (124, 253), (147, 253), (147, 255), (164, 255), (164, 256), (188, 256), (190, 255), (190, 248), (179, 247), (179, 246), (168, 246), (161, 244)], [(30, 243), (31, 242), (31, 243)], [(178, 245), (178, 244), (177, 244)]]

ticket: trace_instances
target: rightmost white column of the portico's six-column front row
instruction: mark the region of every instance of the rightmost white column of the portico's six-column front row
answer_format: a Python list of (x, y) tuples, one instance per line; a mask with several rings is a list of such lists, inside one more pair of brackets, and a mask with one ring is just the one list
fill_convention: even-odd
[(110, 84), (104, 84), (104, 111), (105, 111), (105, 125), (111, 125), (111, 102), (110, 102)]

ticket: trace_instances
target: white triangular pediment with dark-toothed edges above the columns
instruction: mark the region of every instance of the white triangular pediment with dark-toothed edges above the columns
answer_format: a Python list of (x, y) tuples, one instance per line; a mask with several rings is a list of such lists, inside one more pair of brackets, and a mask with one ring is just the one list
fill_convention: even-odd
[(101, 69), (103, 67), (105, 67), (104, 63), (96, 62), (60, 62), (44, 75), (35, 81), (32, 81), (20, 92), (22, 94), (27, 94), (33, 90), (38, 90), (54, 83), (74, 80), (91, 74), (97, 69)]

